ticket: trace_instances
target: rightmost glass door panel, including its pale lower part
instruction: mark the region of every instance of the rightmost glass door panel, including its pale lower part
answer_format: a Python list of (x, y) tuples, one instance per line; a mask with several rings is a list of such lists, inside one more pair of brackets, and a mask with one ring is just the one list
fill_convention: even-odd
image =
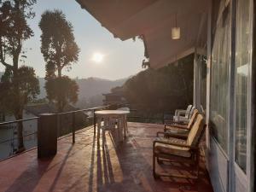
[(235, 130), (234, 174), (236, 192), (249, 191), (248, 150), (250, 113), (250, 68), (252, 62), (251, 0), (236, 1), (236, 73), (235, 73)]

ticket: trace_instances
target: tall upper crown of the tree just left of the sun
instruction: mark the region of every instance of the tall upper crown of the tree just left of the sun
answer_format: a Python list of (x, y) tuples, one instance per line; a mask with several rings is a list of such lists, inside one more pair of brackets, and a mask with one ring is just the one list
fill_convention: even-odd
[(46, 62), (46, 77), (61, 77), (63, 67), (79, 61), (79, 47), (74, 41), (73, 26), (60, 10), (45, 11), (39, 23), (42, 30), (41, 52)]

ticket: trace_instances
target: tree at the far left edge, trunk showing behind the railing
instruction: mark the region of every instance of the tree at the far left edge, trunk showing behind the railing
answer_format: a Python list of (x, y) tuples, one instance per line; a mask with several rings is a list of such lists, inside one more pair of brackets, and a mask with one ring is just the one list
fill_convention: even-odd
[[(23, 108), (38, 94), (38, 81), (33, 69), (19, 67), (20, 57), (26, 58), (22, 45), (33, 36), (26, 20), (34, 17), (32, 5), (36, 2), (36, 0), (0, 1), (0, 62), (5, 67), (1, 79), (0, 100), (4, 110), (13, 113), (15, 119), (23, 119)], [(18, 152), (24, 149), (23, 126), (20, 123)]]

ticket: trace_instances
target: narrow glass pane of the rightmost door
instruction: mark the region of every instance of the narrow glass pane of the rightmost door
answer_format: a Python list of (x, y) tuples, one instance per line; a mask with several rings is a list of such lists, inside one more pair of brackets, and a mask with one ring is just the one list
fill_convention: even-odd
[(235, 160), (247, 169), (247, 96), (250, 66), (250, 1), (238, 0), (236, 10), (236, 130)]

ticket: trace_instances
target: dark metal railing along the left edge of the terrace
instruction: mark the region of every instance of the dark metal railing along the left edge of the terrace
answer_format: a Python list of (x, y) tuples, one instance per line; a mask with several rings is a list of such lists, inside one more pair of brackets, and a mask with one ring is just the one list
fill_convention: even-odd
[[(100, 106), (64, 113), (55, 113), (58, 116), (58, 137), (63, 137), (64, 135), (72, 132), (73, 143), (75, 143), (75, 131), (83, 129), (89, 125), (94, 125), (94, 131), (96, 131), (95, 112), (105, 108), (110, 108), (110, 106)], [(90, 113), (90, 115), (88, 115), (88, 113)], [(20, 138), (17, 134), (19, 123), (23, 124), (23, 140), (26, 150), (38, 146), (39, 118), (40, 117), (33, 117), (0, 123), (0, 160), (9, 158), (17, 153), (17, 143)]]

